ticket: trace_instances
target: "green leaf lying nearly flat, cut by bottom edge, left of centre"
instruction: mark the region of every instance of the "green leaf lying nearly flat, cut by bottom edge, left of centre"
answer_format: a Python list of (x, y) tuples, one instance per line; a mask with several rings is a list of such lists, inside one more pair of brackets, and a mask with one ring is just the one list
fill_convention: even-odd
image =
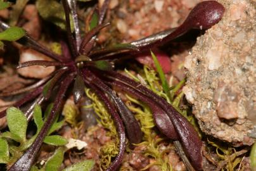
[(71, 165), (70, 167), (67, 167), (63, 169), (62, 171), (77, 171), (77, 170), (83, 170), (83, 171), (90, 171), (94, 166), (93, 160), (85, 160), (83, 162), (75, 163), (74, 165)]

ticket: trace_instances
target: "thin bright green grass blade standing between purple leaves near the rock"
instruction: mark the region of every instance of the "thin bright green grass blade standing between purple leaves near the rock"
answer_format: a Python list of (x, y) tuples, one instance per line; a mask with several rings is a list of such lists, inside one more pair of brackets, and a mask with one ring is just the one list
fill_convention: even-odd
[(168, 85), (168, 82), (165, 78), (165, 74), (163, 73), (162, 67), (161, 67), (159, 61), (157, 60), (157, 56), (155, 56), (155, 54), (152, 51), (150, 51), (150, 52), (151, 52), (151, 56), (153, 58), (153, 61), (155, 63), (155, 67), (157, 69), (160, 80), (162, 82), (163, 91), (165, 92), (165, 94), (167, 94), (167, 97), (170, 98), (169, 85)]

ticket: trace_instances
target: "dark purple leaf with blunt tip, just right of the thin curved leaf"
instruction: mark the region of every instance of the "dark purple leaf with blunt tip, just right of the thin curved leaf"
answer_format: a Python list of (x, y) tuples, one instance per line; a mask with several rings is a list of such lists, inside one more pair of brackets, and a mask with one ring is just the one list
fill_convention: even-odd
[(118, 109), (118, 113), (124, 122), (125, 129), (127, 130), (127, 137), (131, 143), (137, 144), (141, 142), (143, 133), (141, 128), (139, 127), (139, 123), (131, 113), (131, 111), (125, 106), (124, 102), (117, 97), (110, 87), (104, 84), (94, 73), (90, 72), (89, 70), (83, 70), (84, 77), (90, 76), (89, 79), (91, 84), (97, 86), (101, 91), (106, 92), (108, 96), (113, 99), (115, 106)]

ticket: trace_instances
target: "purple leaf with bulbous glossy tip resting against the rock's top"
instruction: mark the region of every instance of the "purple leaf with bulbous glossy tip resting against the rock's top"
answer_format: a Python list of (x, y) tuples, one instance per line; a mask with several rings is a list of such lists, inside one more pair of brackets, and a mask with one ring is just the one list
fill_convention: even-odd
[[(188, 17), (175, 30), (171, 28), (170, 30), (165, 30), (150, 37), (145, 37), (139, 41), (131, 42), (132, 45), (139, 47), (140, 51), (153, 49), (153, 47), (163, 46), (167, 42), (173, 41), (177, 37), (185, 34), (191, 28), (194, 29), (208, 29), (219, 22), (222, 18), (225, 9), (222, 4), (217, 3), (217, 1), (203, 1), (198, 3), (195, 8), (191, 10)], [(95, 51), (96, 52), (96, 51)], [(93, 54), (94, 52), (92, 52)], [(110, 59), (117, 58), (120, 54), (131, 55), (136, 54), (136, 51), (119, 51), (110, 54), (103, 54), (101, 56), (92, 56), (94, 59)]]

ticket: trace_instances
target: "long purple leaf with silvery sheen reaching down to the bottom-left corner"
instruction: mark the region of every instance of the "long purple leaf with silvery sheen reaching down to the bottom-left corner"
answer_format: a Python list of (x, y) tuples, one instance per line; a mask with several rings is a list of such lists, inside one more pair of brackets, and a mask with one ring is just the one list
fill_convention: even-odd
[(42, 126), (42, 129), (40, 130), (38, 136), (35, 138), (35, 141), (30, 146), (30, 148), (27, 149), (27, 151), (25, 151), (25, 153), (23, 153), (23, 155), (11, 166), (9, 171), (30, 170), (35, 161), (37, 153), (42, 145), (42, 141), (44, 140), (44, 137), (46, 137), (46, 135), (48, 134), (48, 130), (54, 122), (56, 113), (61, 106), (61, 101), (65, 96), (65, 92), (67, 91), (68, 86), (71, 84), (73, 79), (74, 75), (67, 75), (67, 77), (65, 77), (65, 79), (61, 82), (60, 90), (58, 91), (58, 94), (54, 99), (54, 105), (51, 110), (51, 113), (49, 114), (46, 122), (44, 122), (44, 125)]

